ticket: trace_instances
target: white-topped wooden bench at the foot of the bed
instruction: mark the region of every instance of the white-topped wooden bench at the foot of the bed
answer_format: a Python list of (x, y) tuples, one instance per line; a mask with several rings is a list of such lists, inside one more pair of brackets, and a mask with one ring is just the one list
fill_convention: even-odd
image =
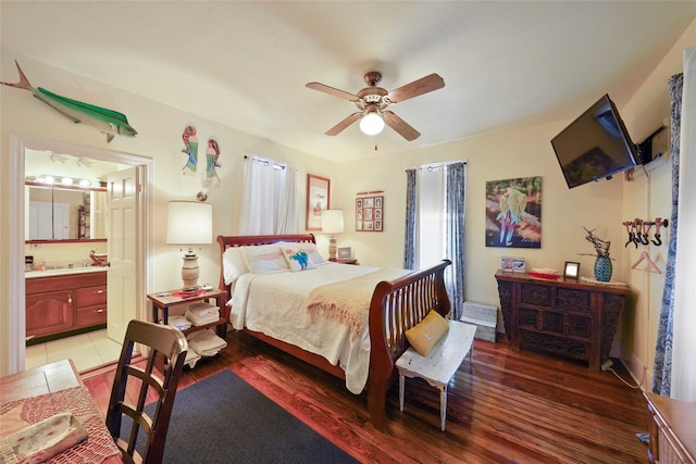
[(409, 347), (396, 362), (399, 369), (399, 407), (403, 411), (405, 377), (420, 377), (439, 390), (439, 416), (445, 431), (447, 418), (447, 385), (467, 354), (469, 364), (473, 360), (473, 341), (476, 326), (459, 321), (447, 321), (449, 330), (433, 347), (427, 356), (421, 356)]

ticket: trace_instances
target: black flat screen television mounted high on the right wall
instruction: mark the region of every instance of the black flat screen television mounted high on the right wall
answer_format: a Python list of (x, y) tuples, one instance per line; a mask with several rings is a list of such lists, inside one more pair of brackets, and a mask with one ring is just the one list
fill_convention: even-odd
[(637, 150), (609, 95), (551, 140), (568, 188), (634, 167)]

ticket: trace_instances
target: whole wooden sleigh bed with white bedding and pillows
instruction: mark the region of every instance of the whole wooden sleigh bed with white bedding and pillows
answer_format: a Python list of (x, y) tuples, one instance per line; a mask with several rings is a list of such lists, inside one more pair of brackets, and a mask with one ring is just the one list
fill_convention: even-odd
[[(427, 268), (414, 272), (400, 269), (400, 274), (395, 274), (397, 269), (321, 263), (323, 259), (319, 256), (319, 263), (312, 264), (311, 258), (307, 260), (308, 263), (302, 263), (302, 265), (318, 267), (320, 272), (315, 273), (310, 269), (307, 273), (278, 271), (264, 274), (256, 268), (252, 271), (257, 272), (249, 272), (247, 268), (246, 273), (232, 276), (229, 271), (234, 268), (229, 261), (232, 253), (239, 254), (241, 251), (251, 253), (263, 248), (275, 249), (275, 243), (279, 244), (278, 249), (299, 247), (311, 253), (311, 249), (315, 250), (314, 236), (312, 234), (219, 236), (217, 243), (221, 252), (220, 288), (226, 290), (222, 311), (233, 327), (243, 329), (273, 347), (345, 379), (347, 388), (352, 392), (361, 392), (356, 391), (356, 388), (366, 391), (370, 418), (377, 430), (386, 431), (386, 393), (398, 377), (394, 364), (408, 348), (405, 333), (422, 321), (431, 310), (435, 310), (442, 315), (449, 313), (450, 302), (445, 289), (444, 272), (450, 262), (443, 260)], [(294, 264), (290, 261), (288, 263)], [(343, 280), (335, 283), (335, 285), (332, 284), (330, 280), (334, 278), (332, 277), (334, 275)], [(310, 289), (307, 279), (319, 276), (322, 277), (320, 285)], [(374, 284), (370, 283), (370, 279), (383, 276), (397, 277), (382, 279), (374, 281)], [(296, 284), (295, 280), (282, 284), (279, 279), (285, 278), (300, 278), (302, 280), (299, 280), (299, 284)], [(349, 284), (346, 284), (347, 281)], [(264, 285), (266, 287), (263, 287)], [(271, 288), (269, 285), (274, 287)], [(334, 300), (330, 305), (331, 312), (326, 310), (326, 304), (322, 306), (321, 302), (316, 302), (316, 296), (322, 290), (341, 286), (350, 286), (355, 289), (352, 292), (355, 301), (347, 302), (341, 298), (336, 298), (335, 301), (344, 301), (347, 306), (350, 306), (350, 303), (353, 306), (361, 306), (364, 303), (361, 316), (351, 312), (356, 308), (337, 308), (338, 303), (333, 304)], [(294, 288), (303, 293), (295, 297), (288, 297), (284, 293), (274, 294), (276, 291), (282, 292), (287, 288)], [(358, 291), (359, 289), (362, 291)], [(269, 294), (261, 296), (261, 293)], [(323, 297), (327, 298), (331, 294), (334, 293), (324, 293)], [(263, 299), (266, 297), (270, 300), (268, 303), (263, 303)], [(303, 301), (303, 308), (296, 308), (291, 311), (303, 313), (300, 316), (303, 319), (297, 323), (298, 327), (304, 327), (303, 324), (311, 322), (313, 328), (338, 330), (337, 334), (324, 334), (324, 337), (344, 341), (338, 341), (338, 346), (314, 349), (311, 340), (307, 342), (298, 338), (298, 335), (313, 334), (313, 330), (299, 329), (290, 334), (288, 330), (284, 331), (279, 326), (266, 327), (266, 322), (274, 318), (270, 311), (281, 312), (277, 318), (287, 322), (288, 327), (293, 327), (295, 323), (288, 322), (290, 310), (284, 308), (287, 300)], [(256, 303), (256, 306), (252, 302)], [(260, 315), (254, 316), (254, 311), (261, 311)], [(333, 319), (326, 321), (324, 317), (333, 317)], [(362, 323), (357, 319), (362, 319)], [(288, 334), (291, 335), (289, 339)], [(358, 362), (351, 366), (350, 360), (352, 359), (363, 359), (364, 363)], [(363, 384), (364, 387), (360, 388)]]

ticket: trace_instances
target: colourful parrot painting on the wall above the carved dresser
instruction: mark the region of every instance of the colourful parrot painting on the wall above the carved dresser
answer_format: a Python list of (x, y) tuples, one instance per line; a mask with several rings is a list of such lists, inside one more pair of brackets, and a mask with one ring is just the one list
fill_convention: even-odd
[(486, 247), (542, 248), (542, 177), (486, 181)]

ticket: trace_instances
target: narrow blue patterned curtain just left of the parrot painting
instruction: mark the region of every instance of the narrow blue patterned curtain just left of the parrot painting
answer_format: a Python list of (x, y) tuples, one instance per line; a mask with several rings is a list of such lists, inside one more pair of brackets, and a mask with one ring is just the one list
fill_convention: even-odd
[(452, 317), (459, 321), (464, 302), (464, 220), (467, 217), (467, 163), (447, 165), (446, 255), (452, 264), (447, 267), (445, 283), (452, 303)]

